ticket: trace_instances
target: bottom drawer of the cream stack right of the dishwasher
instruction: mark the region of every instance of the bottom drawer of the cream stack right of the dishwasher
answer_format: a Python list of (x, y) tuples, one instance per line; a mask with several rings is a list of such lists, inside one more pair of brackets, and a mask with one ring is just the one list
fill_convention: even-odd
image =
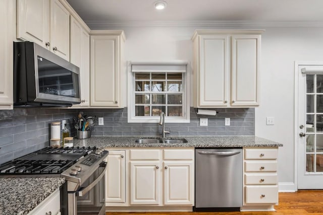
[(278, 203), (278, 186), (246, 186), (246, 203)]

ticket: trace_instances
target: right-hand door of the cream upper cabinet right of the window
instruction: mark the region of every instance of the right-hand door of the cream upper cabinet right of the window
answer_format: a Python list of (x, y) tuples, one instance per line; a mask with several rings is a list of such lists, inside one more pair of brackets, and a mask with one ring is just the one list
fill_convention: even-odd
[(260, 35), (231, 37), (231, 105), (258, 106)]

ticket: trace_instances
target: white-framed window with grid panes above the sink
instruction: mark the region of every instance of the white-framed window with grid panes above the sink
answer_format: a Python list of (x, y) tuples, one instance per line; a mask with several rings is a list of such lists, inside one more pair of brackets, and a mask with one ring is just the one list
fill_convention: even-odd
[(128, 122), (189, 122), (188, 62), (129, 63)]

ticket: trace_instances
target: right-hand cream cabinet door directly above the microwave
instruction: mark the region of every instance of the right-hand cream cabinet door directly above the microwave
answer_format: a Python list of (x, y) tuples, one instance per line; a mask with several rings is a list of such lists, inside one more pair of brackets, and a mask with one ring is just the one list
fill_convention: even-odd
[(70, 13), (59, 0), (50, 1), (50, 49), (70, 61)]

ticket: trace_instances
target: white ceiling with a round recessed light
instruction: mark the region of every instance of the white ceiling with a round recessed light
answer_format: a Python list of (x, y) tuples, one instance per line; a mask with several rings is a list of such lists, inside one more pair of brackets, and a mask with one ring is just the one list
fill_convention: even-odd
[(322, 0), (67, 0), (85, 22), (257, 21), (322, 22)]

